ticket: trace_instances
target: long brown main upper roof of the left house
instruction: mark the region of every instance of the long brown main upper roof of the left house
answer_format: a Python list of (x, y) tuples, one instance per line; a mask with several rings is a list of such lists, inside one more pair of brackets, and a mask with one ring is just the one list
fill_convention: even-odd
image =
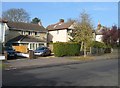
[(11, 30), (42, 31), (42, 32), (47, 31), (43, 26), (40, 26), (38, 24), (33, 24), (33, 23), (8, 21), (7, 25)]

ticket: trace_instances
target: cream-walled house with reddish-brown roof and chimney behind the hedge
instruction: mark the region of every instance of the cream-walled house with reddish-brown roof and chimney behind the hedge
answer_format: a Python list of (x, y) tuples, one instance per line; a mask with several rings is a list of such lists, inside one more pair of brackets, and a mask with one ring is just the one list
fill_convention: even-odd
[(47, 28), (48, 42), (68, 42), (70, 41), (70, 33), (74, 29), (74, 22), (64, 22), (60, 19), (58, 23), (51, 24)]

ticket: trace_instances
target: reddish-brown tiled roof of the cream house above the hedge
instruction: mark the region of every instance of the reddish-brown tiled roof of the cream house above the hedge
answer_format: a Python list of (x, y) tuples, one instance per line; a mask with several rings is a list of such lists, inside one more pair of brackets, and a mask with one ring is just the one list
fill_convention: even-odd
[(73, 22), (58, 22), (56, 24), (49, 25), (46, 29), (48, 30), (61, 30), (61, 29), (68, 29)]

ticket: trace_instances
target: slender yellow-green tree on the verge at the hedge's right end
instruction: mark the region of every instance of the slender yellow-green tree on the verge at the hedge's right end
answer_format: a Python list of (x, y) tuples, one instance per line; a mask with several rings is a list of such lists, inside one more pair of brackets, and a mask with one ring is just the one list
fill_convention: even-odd
[(91, 44), (93, 34), (93, 25), (91, 19), (86, 12), (81, 13), (73, 31), (73, 41), (81, 43), (81, 50), (84, 45), (84, 57), (86, 56), (86, 48)]

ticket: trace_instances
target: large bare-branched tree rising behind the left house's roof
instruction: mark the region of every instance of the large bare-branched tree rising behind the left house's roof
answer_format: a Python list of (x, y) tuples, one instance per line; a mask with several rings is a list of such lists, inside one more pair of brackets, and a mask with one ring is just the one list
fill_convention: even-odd
[(9, 9), (2, 14), (3, 19), (13, 22), (29, 22), (29, 14), (22, 8)]

